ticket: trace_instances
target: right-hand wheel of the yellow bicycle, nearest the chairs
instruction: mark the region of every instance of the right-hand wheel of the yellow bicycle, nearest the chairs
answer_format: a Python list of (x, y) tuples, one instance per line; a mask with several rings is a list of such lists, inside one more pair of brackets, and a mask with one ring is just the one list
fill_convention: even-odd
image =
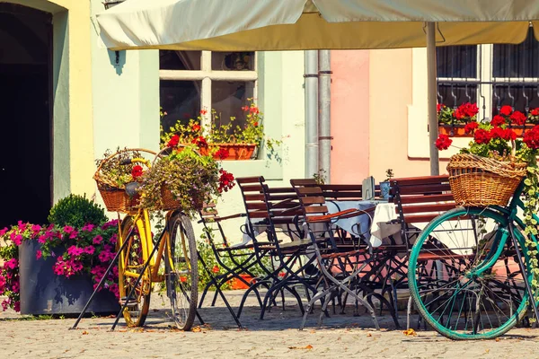
[(165, 251), (167, 295), (172, 318), (181, 330), (190, 330), (199, 295), (199, 258), (190, 219), (175, 213), (169, 220), (169, 242)]

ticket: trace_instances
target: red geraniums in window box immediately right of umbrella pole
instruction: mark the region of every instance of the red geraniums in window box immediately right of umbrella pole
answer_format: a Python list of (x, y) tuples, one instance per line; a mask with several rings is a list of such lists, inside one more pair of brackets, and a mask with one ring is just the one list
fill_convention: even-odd
[(438, 133), (446, 136), (470, 136), (471, 130), (477, 127), (477, 104), (464, 102), (456, 109), (444, 104), (437, 105)]

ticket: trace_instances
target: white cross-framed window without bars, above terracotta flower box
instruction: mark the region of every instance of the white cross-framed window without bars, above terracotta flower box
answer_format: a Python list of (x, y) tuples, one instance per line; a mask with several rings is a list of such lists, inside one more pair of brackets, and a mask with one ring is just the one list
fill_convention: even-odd
[[(256, 58), (254, 52), (210, 52), (162, 50), (160, 56), (161, 107), (167, 113), (166, 130), (178, 120), (197, 118), (201, 109), (216, 110), (219, 124), (231, 117), (242, 126), (242, 106), (256, 98)], [(209, 125), (210, 116), (203, 124)]]

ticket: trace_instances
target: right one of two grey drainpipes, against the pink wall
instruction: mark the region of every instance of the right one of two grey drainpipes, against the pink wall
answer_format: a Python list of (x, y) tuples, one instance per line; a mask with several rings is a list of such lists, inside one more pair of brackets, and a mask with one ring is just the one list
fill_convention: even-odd
[(318, 51), (318, 163), (324, 180), (331, 183), (331, 51)]

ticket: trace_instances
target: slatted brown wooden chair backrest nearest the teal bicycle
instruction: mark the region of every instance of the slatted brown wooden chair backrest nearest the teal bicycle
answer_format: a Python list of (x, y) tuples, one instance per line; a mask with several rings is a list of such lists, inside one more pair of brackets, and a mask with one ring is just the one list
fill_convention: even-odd
[(447, 175), (393, 179), (390, 193), (396, 214), (406, 224), (430, 222), (456, 206)]

